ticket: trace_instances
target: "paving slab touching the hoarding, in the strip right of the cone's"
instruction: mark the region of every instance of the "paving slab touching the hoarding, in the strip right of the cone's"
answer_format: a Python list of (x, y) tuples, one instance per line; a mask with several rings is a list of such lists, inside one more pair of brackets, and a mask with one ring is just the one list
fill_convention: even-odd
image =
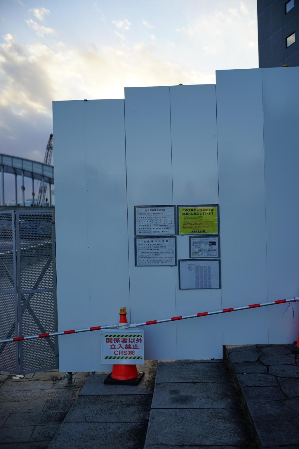
[(156, 383), (169, 382), (230, 382), (225, 363), (158, 363)]

